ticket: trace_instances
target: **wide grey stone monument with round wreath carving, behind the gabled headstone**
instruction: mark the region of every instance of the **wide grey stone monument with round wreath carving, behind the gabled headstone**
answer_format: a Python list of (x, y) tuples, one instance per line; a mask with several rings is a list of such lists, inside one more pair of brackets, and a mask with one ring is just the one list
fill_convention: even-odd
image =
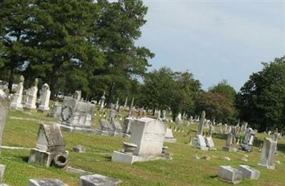
[(73, 128), (91, 128), (93, 115), (94, 104), (66, 97), (58, 120), (63, 130), (72, 131)]

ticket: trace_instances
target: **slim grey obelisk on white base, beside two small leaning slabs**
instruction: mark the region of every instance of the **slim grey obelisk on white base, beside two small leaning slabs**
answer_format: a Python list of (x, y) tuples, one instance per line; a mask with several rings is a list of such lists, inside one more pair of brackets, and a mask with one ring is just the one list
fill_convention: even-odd
[(193, 138), (193, 145), (196, 148), (200, 148), (203, 151), (208, 151), (209, 148), (207, 147), (206, 141), (204, 140), (203, 130), (204, 130), (204, 122), (205, 122), (206, 113), (202, 111), (201, 119), (199, 120), (199, 126), (197, 129), (197, 134), (195, 138)]

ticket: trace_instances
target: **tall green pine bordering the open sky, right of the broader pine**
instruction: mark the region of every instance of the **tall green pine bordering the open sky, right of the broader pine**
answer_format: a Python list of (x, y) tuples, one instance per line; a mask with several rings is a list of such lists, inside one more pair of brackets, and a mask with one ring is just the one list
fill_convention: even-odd
[[(124, 1), (108, 3), (99, 0), (98, 6), (102, 9), (99, 21), (94, 26), (94, 34), (90, 40), (99, 45), (106, 56), (103, 69), (96, 70), (95, 75), (108, 84), (108, 104), (115, 101), (115, 89), (128, 92), (125, 84), (142, 77), (150, 64), (149, 58), (154, 54), (147, 48), (135, 46), (135, 40), (140, 38), (140, 28), (145, 24), (147, 7), (142, 1)], [(130, 82), (129, 82), (130, 81)]]

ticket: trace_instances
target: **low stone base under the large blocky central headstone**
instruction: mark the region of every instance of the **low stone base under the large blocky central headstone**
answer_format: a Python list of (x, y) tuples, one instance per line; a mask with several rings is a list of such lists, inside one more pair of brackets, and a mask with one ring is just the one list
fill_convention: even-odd
[(149, 161), (149, 160), (171, 160), (172, 158), (167, 155), (161, 156), (139, 156), (120, 151), (113, 151), (112, 161), (117, 163), (125, 163), (132, 165), (135, 162)]

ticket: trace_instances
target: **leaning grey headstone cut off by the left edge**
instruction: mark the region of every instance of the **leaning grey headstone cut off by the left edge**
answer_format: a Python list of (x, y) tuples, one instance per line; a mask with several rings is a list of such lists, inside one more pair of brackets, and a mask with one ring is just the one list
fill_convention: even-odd
[[(9, 111), (9, 99), (6, 96), (6, 94), (0, 89), (0, 146), (2, 143), (2, 136), (4, 132), (4, 126), (6, 117)], [(0, 148), (0, 154), (1, 154), (1, 148)]]

